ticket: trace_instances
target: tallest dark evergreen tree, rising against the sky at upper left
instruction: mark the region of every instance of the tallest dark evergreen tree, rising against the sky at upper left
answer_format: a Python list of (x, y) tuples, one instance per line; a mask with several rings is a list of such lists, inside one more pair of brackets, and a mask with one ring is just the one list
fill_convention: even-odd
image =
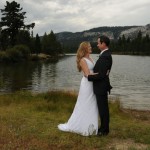
[(20, 4), (15, 1), (6, 1), (6, 6), (1, 9), (2, 18), (0, 27), (2, 28), (2, 40), (8, 39), (7, 46), (14, 46), (16, 44), (16, 36), (21, 29), (27, 29), (34, 27), (34, 23), (25, 25), (24, 19), (26, 12), (21, 12), (23, 8), (20, 8)]

